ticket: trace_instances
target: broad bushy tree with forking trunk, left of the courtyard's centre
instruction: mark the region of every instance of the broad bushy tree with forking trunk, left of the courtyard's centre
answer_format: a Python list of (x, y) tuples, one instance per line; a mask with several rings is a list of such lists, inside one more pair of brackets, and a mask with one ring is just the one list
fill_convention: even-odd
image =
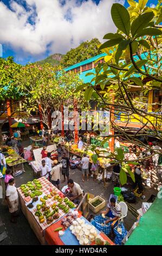
[(49, 117), (53, 111), (61, 111), (61, 106), (73, 107), (74, 98), (80, 107), (85, 106), (81, 92), (74, 93), (81, 80), (74, 72), (68, 73), (60, 66), (45, 63), (43, 66), (29, 64), (17, 73), (17, 86), (19, 92), (23, 90), (24, 100), (22, 108), (31, 115), (41, 106), (42, 121), (48, 126)]

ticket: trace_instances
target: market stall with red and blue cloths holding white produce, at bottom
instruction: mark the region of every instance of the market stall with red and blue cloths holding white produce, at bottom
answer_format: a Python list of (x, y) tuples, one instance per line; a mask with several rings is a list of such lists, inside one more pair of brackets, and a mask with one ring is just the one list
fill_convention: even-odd
[[(79, 215), (75, 214), (75, 211), (73, 212), (46, 229), (45, 239), (48, 245), (114, 245), (104, 233), (96, 229), (80, 212)], [(61, 230), (60, 234), (58, 229)]]

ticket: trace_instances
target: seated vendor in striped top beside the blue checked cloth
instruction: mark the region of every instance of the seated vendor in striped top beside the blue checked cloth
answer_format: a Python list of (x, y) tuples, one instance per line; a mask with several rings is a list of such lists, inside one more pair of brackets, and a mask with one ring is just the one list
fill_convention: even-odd
[[(116, 203), (115, 198), (111, 198), (109, 200), (109, 203), (107, 205), (108, 209), (106, 211), (102, 211), (101, 214), (104, 214), (106, 217), (109, 217), (110, 219), (105, 221), (105, 223), (113, 222), (118, 220), (118, 218), (121, 216), (121, 206)], [(113, 223), (111, 223), (113, 225)], [(118, 223), (116, 222), (113, 227), (115, 227)]]

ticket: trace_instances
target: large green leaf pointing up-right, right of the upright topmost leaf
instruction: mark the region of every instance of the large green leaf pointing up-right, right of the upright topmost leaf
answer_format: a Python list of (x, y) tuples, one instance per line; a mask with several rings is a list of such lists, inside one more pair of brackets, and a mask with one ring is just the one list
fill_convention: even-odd
[(135, 19), (131, 25), (132, 36), (140, 32), (141, 29), (146, 28), (148, 25), (148, 22), (150, 22), (153, 19), (153, 16), (154, 16), (153, 12), (144, 13), (140, 15), (137, 19)]

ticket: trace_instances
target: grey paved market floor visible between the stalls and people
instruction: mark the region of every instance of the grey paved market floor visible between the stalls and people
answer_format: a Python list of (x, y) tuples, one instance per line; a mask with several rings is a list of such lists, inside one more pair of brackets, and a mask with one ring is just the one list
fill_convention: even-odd
[[(90, 177), (89, 181), (82, 182), (81, 179), (82, 172), (78, 169), (70, 170), (70, 178), (75, 182), (78, 182), (82, 189), (85, 192), (94, 194), (95, 196), (100, 195), (106, 201), (109, 199), (111, 193), (113, 193), (113, 184), (109, 182), (107, 187), (104, 187), (103, 182), (96, 183), (93, 181), (93, 178)], [(21, 184), (24, 184), (27, 181), (33, 180), (33, 170), (31, 167), (25, 163), (25, 173), (16, 177), (16, 187), (19, 187)], [(66, 185), (61, 184), (61, 187)], [(152, 189), (146, 190), (146, 200), (155, 194), (155, 191)], [(141, 207), (142, 200), (137, 199), (137, 203), (132, 204), (135, 209)], [(133, 223), (135, 222), (135, 217), (128, 211), (128, 215), (125, 219), (125, 227), (129, 230)], [(39, 241), (35, 236), (33, 230), (30, 228), (30, 225), (24, 215), (20, 214), (17, 224), (12, 224), (10, 222), (10, 214), (8, 206), (4, 203), (4, 200), (0, 199), (0, 245), (39, 245)]]

